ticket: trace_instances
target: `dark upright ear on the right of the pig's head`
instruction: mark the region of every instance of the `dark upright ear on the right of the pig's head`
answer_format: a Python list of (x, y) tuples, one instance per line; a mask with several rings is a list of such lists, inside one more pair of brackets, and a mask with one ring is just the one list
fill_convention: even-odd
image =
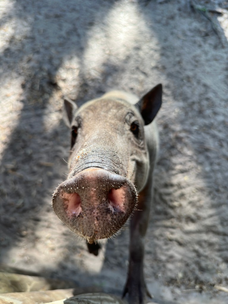
[(145, 125), (152, 122), (161, 107), (162, 85), (156, 85), (150, 92), (144, 95), (137, 103), (136, 108), (141, 113)]

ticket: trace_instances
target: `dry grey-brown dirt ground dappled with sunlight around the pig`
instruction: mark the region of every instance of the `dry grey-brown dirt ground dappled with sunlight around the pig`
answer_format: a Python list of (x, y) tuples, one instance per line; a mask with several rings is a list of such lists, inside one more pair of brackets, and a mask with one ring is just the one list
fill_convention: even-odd
[[(195, 7), (195, 9), (193, 9)], [(62, 98), (164, 86), (145, 244), (158, 303), (227, 303), (228, 1), (0, 1), (0, 262), (121, 295), (129, 229), (98, 257), (52, 211)]]

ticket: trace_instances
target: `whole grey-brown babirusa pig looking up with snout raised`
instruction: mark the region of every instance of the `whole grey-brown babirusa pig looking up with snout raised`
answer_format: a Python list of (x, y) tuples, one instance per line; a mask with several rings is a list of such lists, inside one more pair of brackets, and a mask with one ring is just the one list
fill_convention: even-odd
[(161, 106), (161, 85), (140, 100), (112, 91), (77, 108), (65, 100), (71, 128), (69, 175), (53, 195), (57, 216), (88, 249), (98, 254), (97, 240), (109, 238), (131, 219), (130, 265), (124, 295), (144, 303), (143, 238), (152, 193), (158, 137), (153, 121)]

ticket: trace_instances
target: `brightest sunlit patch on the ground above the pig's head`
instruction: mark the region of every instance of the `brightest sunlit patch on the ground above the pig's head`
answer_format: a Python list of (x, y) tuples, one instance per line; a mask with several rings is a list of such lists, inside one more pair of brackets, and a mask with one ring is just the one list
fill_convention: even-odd
[[(152, 33), (155, 38), (155, 34)], [(104, 20), (99, 20), (88, 31), (88, 43), (84, 52), (84, 67), (93, 77), (104, 72), (103, 65), (119, 65), (130, 55), (131, 50), (148, 43), (151, 29), (142, 18), (136, 2), (115, 3)], [(155, 43), (157, 45), (157, 43)], [(159, 56), (154, 61), (159, 60)]]

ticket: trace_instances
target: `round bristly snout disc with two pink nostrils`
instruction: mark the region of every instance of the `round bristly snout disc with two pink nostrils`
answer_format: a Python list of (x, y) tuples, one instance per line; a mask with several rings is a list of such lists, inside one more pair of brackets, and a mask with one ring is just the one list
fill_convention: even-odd
[(89, 243), (111, 237), (137, 203), (136, 189), (126, 177), (89, 168), (61, 183), (53, 195), (57, 216)]

